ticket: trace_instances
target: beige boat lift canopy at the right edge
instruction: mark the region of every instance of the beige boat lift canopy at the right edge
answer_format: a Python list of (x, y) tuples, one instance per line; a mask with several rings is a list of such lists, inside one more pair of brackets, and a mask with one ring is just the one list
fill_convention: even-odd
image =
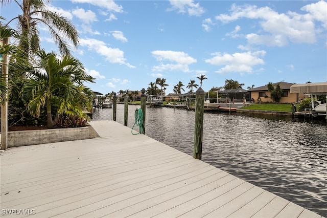
[(327, 82), (309, 82), (291, 85), (291, 93), (326, 94)]

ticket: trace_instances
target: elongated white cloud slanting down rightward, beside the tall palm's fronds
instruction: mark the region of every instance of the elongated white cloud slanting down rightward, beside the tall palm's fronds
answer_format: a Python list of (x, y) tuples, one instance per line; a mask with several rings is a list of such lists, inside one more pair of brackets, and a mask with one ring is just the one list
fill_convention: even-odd
[(92, 38), (81, 38), (80, 45), (106, 57), (106, 60), (108, 60), (110, 63), (119, 63), (124, 64), (129, 68), (135, 68), (130, 63), (126, 62), (126, 58), (124, 58), (124, 52), (122, 50), (107, 47), (106, 43), (103, 41)]

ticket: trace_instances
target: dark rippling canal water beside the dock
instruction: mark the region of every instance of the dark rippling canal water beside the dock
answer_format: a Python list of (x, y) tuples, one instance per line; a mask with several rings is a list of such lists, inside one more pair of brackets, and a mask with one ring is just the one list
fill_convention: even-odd
[[(129, 105), (130, 128), (136, 107)], [(147, 107), (146, 135), (193, 156), (194, 117), (194, 111)], [(202, 160), (327, 216), (326, 122), (268, 118), (205, 113)], [(123, 124), (122, 104), (116, 119)]]

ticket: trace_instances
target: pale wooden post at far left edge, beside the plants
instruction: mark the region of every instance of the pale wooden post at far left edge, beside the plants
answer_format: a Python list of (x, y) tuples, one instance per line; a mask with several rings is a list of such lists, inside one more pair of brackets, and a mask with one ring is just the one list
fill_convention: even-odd
[[(3, 45), (9, 44), (9, 38), (3, 39)], [(4, 79), (6, 88), (8, 88), (8, 55), (3, 55), (2, 59), (2, 79)], [(8, 93), (5, 93), (6, 100), (1, 104), (1, 149), (8, 148)]]

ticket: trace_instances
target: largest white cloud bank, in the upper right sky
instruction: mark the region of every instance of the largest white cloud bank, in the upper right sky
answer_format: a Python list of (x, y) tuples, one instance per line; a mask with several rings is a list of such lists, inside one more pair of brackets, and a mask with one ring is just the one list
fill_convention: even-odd
[[(291, 11), (279, 14), (269, 7), (258, 8), (255, 5), (237, 6), (233, 4), (230, 14), (220, 14), (216, 16), (216, 19), (222, 23), (229, 23), (241, 18), (259, 19), (263, 34), (247, 34), (246, 38), (250, 44), (285, 46), (288, 41), (314, 43), (317, 32), (314, 19), (327, 22), (325, 18), (327, 16), (326, 5), (327, 3), (321, 1), (302, 7), (302, 10), (310, 11), (312, 14), (299, 14)], [(315, 11), (318, 7), (323, 9)]]

